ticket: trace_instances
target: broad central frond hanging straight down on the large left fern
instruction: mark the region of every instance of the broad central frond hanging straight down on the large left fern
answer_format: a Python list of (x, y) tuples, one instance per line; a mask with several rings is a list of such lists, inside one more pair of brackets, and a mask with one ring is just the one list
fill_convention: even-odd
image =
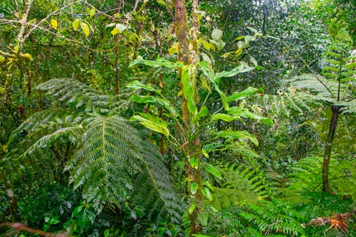
[(88, 201), (120, 204), (142, 172), (141, 139), (122, 117), (93, 117), (84, 127), (83, 145), (66, 165), (74, 188)]

